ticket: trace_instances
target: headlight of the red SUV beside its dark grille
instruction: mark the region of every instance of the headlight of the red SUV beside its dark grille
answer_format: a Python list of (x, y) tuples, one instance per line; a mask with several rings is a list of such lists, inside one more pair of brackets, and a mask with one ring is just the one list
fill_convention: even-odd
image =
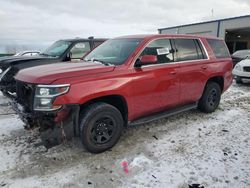
[(61, 105), (53, 105), (56, 97), (69, 91), (70, 85), (38, 85), (35, 91), (34, 110), (53, 111), (58, 110)]

